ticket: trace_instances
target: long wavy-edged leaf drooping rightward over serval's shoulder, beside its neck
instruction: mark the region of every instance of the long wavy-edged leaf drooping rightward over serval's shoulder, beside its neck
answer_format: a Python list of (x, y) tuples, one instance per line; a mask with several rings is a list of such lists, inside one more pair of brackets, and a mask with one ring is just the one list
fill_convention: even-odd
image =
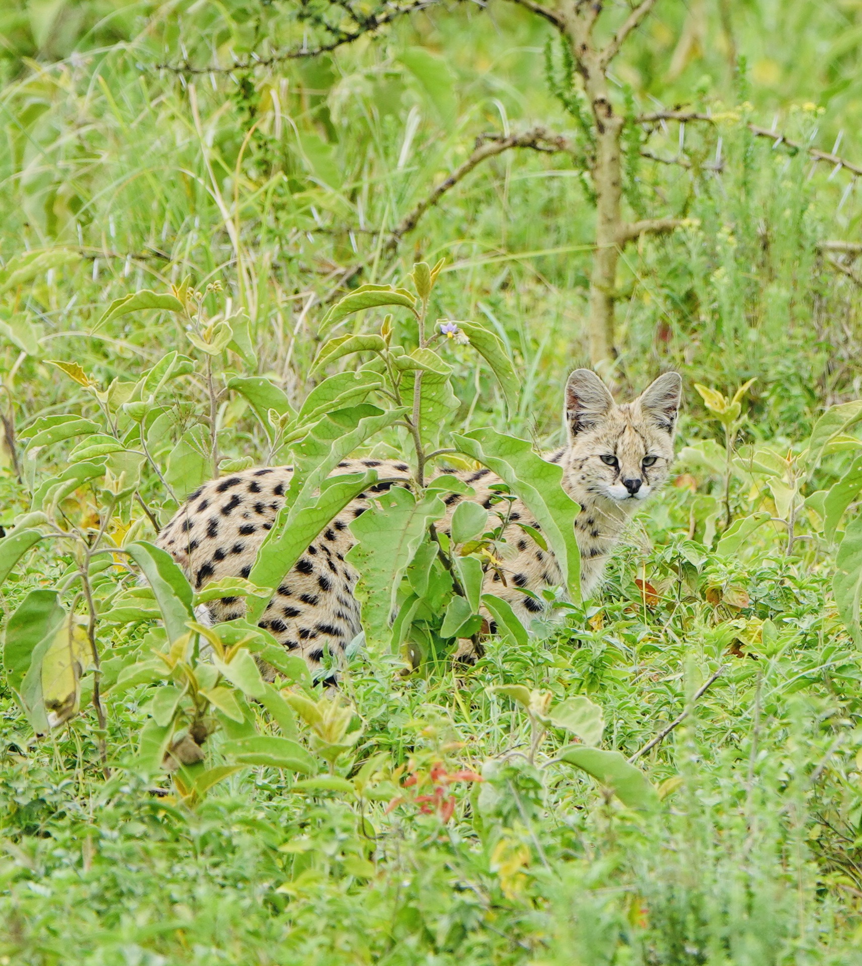
[(580, 507), (562, 489), (562, 469), (537, 456), (527, 440), (493, 429), (477, 429), (452, 439), (462, 453), (493, 469), (524, 501), (554, 552), (572, 600), (580, 601), (581, 555), (575, 539)]

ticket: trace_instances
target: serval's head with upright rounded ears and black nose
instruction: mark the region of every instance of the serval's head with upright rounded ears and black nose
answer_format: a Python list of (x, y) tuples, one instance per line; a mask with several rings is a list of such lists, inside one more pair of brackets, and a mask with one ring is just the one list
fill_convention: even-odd
[[(631, 403), (620, 406), (589, 369), (576, 369), (565, 385), (568, 449), (565, 485), (581, 503), (606, 497), (634, 508), (667, 479), (682, 392), (678, 373), (667, 372)], [(580, 497), (580, 498), (579, 498)]]

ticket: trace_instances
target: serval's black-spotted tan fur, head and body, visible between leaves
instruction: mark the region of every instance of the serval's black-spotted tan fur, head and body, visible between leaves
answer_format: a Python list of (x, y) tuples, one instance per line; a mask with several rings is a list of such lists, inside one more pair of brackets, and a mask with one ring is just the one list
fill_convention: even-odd
[[(581, 550), (581, 579), (589, 596), (601, 581), (608, 557), (618, 543), (628, 518), (640, 502), (665, 481), (674, 456), (674, 429), (681, 381), (675, 373), (657, 379), (634, 402), (617, 406), (605, 385), (588, 369), (569, 377), (565, 389), (568, 444), (545, 459), (563, 469), (563, 486), (582, 507), (576, 520)], [(608, 466), (601, 457), (617, 460)], [(655, 457), (650, 467), (644, 459)], [(350, 524), (363, 513), (369, 499), (407, 480), (410, 469), (399, 461), (345, 460), (336, 474), (374, 467), (384, 480), (361, 494), (327, 527), (297, 562), (273, 595), (260, 626), (283, 646), (317, 667), (324, 650), (343, 652), (359, 633), (359, 606), (353, 597), (357, 574), (344, 560), (354, 540)], [(452, 470), (445, 470), (452, 472)], [(499, 526), (490, 486), (500, 479), (488, 469), (458, 470), (454, 474), (474, 488), (470, 497), (491, 509), (489, 526)], [(247, 469), (212, 480), (187, 499), (158, 536), (184, 568), (195, 588), (223, 577), (247, 577), (254, 557), (276, 513), (292, 476), (290, 467)], [(623, 481), (628, 481), (628, 485)], [(635, 481), (638, 481), (637, 483)], [(634, 491), (633, 496), (630, 491)], [(448, 497), (445, 519), (438, 529), (448, 532), (452, 513), (462, 497)], [(512, 606), (529, 627), (543, 605), (541, 590), (561, 582), (554, 554), (534, 543), (518, 522), (538, 528), (520, 501), (512, 505), (511, 523), (503, 533), (503, 578), (489, 571), (485, 591)], [(242, 600), (224, 598), (209, 605), (216, 620), (244, 613)]]

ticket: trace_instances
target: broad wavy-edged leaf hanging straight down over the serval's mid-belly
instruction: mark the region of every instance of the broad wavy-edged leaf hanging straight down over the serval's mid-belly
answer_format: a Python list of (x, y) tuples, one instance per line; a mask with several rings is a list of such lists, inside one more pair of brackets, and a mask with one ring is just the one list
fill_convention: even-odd
[(357, 543), (346, 559), (359, 571), (354, 594), (361, 604), (369, 648), (387, 643), (401, 578), (428, 525), (444, 514), (445, 503), (438, 493), (432, 491), (417, 502), (409, 490), (393, 487), (351, 524)]

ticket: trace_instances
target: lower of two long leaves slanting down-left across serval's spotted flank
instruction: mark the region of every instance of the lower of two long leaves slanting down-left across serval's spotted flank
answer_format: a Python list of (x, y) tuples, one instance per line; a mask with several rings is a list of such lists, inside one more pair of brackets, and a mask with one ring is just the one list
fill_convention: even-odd
[(308, 544), (375, 479), (375, 472), (351, 473), (336, 478), (310, 505), (291, 507), (287, 513), (284, 508), (279, 510), (273, 529), (261, 544), (248, 575), (251, 582), (269, 591), (266, 597), (249, 600), (246, 607), (250, 620), (260, 619), (275, 588), (300, 559)]

